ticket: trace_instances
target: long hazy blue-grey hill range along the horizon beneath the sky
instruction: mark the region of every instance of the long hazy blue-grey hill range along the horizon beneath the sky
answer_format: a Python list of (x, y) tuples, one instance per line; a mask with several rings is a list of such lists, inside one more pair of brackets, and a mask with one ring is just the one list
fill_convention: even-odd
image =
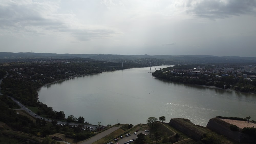
[(29, 59), (71, 59), (89, 58), (108, 62), (155, 62), (158, 64), (206, 64), (206, 63), (256, 63), (256, 57), (237, 56), (210, 56), (210, 55), (119, 55), (119, 54), (57, 54), (57, 53), (31, 53), (31, 52), (0, 52), (0, 62), (19, 61)]

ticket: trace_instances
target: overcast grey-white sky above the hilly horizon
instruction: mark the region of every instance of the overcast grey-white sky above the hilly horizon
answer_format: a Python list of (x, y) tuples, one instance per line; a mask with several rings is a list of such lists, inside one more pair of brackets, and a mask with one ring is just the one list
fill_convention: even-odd
[(256, 57), (256, 0), (0, 0), (0, 51)]

